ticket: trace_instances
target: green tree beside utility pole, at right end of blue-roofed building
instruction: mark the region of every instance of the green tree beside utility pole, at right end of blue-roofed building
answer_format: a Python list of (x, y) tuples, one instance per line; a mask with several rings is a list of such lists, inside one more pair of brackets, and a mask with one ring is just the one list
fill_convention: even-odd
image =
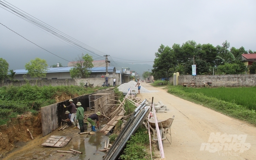
[(91, 73), (91, 68), (93, 67), (93, 57), (86, 54), (84, 57), (78, 55), (75, 59), (76, 63), (70, 69), (71, 78), (87, 78)]

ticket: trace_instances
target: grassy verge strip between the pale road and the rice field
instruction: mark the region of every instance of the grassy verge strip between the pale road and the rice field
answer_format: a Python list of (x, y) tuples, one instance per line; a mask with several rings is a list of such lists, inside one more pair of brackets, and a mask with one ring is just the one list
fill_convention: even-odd
[(248, 109), (246, 106), (237, 105), (235, 102), (226, 102), (215, 97), (208, 97), (203, 93), (186, 92), (186, 88), (183, 86), (170, 85), (168, 88), (168, 93), (182, 99), (189, 100), (200, 105), (203, 104), (207, 108), (220, 112), (229, 117), (237, 118), (256, 125), (256, 112), (254, 109)]

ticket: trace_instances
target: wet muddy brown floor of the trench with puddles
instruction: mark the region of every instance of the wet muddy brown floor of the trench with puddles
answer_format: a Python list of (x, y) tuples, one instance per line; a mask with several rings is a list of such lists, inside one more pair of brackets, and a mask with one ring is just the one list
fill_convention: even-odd
[[(88, 127), (88, 131), (90, 130), (91, 128)], [(79, 129), (69, 127), (63, 131), (55, 130), (44, 137), (40, 135), (33, 141), (27, 142), (25, 146), (18, 147), (8, 153), (4, 160), (102, 160), (105, 152), (98, 150), (104, 149), (104, 142), (108, 136), (104, 136), (101, 132), (96, 132), (96, 135), (79, 135), (78, 132)], [(41, 144), (51, 135), (70, 136), (72, 139), (64, 148), (42, 146)], [(82, 154), (56, 152), (57, 150), (69, 151), (69, 149), (80, 151)]]

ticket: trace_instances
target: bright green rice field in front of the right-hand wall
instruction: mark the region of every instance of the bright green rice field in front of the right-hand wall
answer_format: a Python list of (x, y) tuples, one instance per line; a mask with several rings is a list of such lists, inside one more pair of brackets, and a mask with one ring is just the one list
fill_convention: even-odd
[(203, 93), (226, 102), (233, 102), (256, 110), (256, 87), (239, 88), (184, 88), (187, 93)]

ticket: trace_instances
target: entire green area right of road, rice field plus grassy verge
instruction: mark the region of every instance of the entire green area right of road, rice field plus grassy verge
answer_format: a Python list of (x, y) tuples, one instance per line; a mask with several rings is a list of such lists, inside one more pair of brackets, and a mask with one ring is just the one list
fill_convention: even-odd
[(169, 85), (168, 93), (256, 125), (256, 87), (186, 88)]

